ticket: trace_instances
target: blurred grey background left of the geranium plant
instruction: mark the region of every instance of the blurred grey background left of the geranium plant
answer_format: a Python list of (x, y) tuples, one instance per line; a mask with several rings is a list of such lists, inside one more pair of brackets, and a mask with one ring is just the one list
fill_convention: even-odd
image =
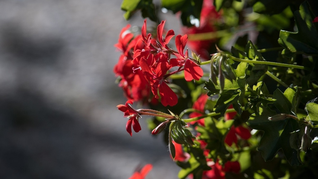
[[(126, 132), (114, 44), (121, 0), (0, 1), (0, 178), (177, 178), (163, 136)], [(171, 13), (166, 27), (177, 30)], [(149, 24), (150, 21), (149, 21)], [(149, 25), (150, 26), (150, 25)]]

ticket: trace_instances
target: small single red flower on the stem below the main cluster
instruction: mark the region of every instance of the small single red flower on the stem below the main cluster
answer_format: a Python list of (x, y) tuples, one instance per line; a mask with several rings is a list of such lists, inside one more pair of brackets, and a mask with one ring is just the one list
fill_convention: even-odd
[(125, 105), (119, 104), (117, 105), (118, 109), (120, 111), (124, 112), (124, 117), (129, 117), (127, 124), (126, 124), (126, 130), (132, 136), (131, 131), (131, 125), (133, 125), (133, 129), (135, 132), (139, 132), (141, 130), (140, 124), (138, 122), (138, 118), (140, 115), (138, 114), (138, 111), (134, 110), (129, 104), (133, 104), (131, 101), (127, 101)]

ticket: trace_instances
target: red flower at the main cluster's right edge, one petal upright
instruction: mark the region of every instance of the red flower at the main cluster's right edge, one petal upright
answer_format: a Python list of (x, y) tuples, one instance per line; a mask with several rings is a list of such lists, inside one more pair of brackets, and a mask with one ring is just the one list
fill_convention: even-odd
[(183, 50), (188, 41), (188, 35), (176, 36), (176, 48), (178, 53), (175, 53), (177, 58), (170, 59), (170, 64), (173, 66), (184, 66), (184, 79), (186, 81), (199, 80), (203, 76), (202, 68), (189, 58), (188, 50), (183, 54)]

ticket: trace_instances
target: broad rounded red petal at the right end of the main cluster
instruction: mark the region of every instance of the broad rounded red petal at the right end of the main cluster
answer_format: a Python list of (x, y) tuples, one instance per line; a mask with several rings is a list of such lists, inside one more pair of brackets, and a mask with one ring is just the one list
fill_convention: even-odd
[(188, 82), (199, 80), (203, 76), (202, 68), (192, 60), (187, 59), (184, 64), (184, 79)]

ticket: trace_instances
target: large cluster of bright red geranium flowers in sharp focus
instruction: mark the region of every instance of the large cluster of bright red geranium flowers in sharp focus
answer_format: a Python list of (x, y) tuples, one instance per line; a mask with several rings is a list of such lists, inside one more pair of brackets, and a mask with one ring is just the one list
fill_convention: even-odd
[[(119, 86), (125, 91), (128, 100), (144, 101), (152, 94), (154, 98), (160, 99), (163, 106), (174, 106), (178, 97), (169, 87), (167, 78), (181, 71), (184, 71), (186, 81), (199, 80), (203, 76), (199, 62), (189, 57), (188, 50), (184, 52), (187, 35), (176, 36), (175, 51), (168, 46), (175, 32), (169, 30), (163, 37), (164, 25), (165, 21), (158, 25), (157, 39), (147, 33), (146, 20), (141, 35), (134, 37), (133, 33), (127, 32), (129, 25), (120, 33), (115, 47), (121, 50), (122, 54), (114, 73), (120, 77)], [(171, 58), (171, 55), (175, 58)], [(173, 67), (177, 69), (169, 72)]]

